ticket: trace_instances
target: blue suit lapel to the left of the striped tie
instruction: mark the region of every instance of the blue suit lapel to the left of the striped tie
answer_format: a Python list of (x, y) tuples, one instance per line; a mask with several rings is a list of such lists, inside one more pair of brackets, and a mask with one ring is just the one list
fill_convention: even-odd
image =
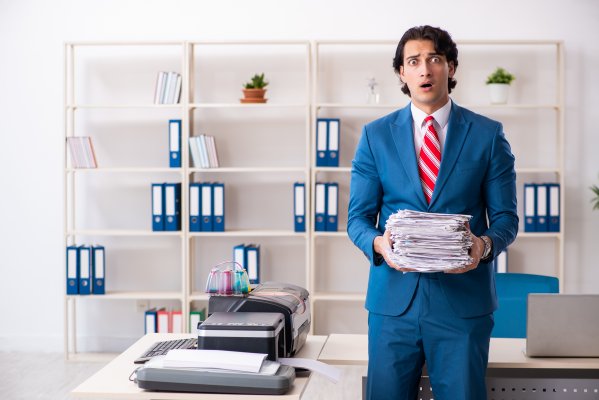
[(414, 151), (413, 124), (412, 112), (410, 111), (410, 105), (408, 105), (400, 110), (397, 119), (391, 123), (391, 135), (399, 154), (399, 160), (412, 183), (412, 189), (414, 189), (422, 209), (426, 210), (428, 204), (422, 191), (422, 184), (418, 175), (418, 161), (416, 160), (416, 152)]

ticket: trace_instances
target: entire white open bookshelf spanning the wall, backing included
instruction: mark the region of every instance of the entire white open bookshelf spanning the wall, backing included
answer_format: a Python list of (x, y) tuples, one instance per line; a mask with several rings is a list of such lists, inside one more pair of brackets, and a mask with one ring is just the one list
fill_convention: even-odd
[[(409, 101), (391, 67), (396, 45), (397, 41), (65, 44), (65, 137), (92, 136), (99, 166), (71, 168), (65, 150), (64, 244), (106, 243), (107, 253), (106, 295), (65, 295), (67, 357), (76, 356), (80, 332), (90, 330), (78, 321), (93, 302), (98, 302), (100, 310), (112, 303), (108, 300), (145, 301), (152, 306), (166, 302), (183, 311), (184, 329), (189, 330), (187, 316), (192, 307), (207, 305), (203, 288), (210, 267), (230, 259), (232, 246), (242, 242), (261, 245), (262, 268), (267, 268), (263, 278), (309, 290), (313, 333), (365, 333), (366, 320), (361, 315), (368, 261), (346, 234), (351, 159), (362, 126)], [(561, 185), (560, 232), (528, 233), (521, 224), (512, 245), (518, 251), (510, 269), (557, 276), (563, 288), (563, 44), (463, 41), (458, 48), (458, 86), (451, 96), (458, 104), (504, 123), (517, 157), (521, 219), (523, 182), (539, 179)], [(519, 57), (522, 54), (528, 58)], [(536, 68), (519, 63), (521, 59), (531, 63), (531, 54)], [(486, 102), (484, 78), (498, 65), (517, 77), (513, 96), (505, 105)], [(181, 74), (181, 100), (153, 104), (156, 74), (166, 70)], [(268, 102), (240, 104), (242, 83), (261, 72), (271, 83)], [(380, 85), (379, 104), (366, 103), (367, 79), (373, 76)], [(540, 88), (543, 82), (547, 89)], [(319, 117), (341, 119), (339, 167), (316, 167)], [(168, 168), (165, 157), (168, 119), (182, 121), (181, 168)], [(549, 128), (550, 144), (537, 153), (524, 152), (530, 142), (519, 121), (527, 121), (537, 136)], [(188, 139), (204, 133), (216, 137), (219, 168), (196, 168), (190, 162)], [(550, 156), (543, 158), (540, 152)], [(130, 157), (132, 153), (145, 156)], [(150, 183), (163, 181), (181, 182), (178, 232), (151, 230)], [(194, 181), (225, 183), (224, 232), (189, 232), (188, 188)], [(293, 231), (295, 181), (306, 183), (304, 233)], [(337, 232), (314, 230), (317, 181), (340, 184)], [(124, 209), (118, 210), (121, 203)], [(550, 262), (531, 270), (537, 256), (529, 251), (543, 253)], [(143, 275), (143, 268), (148, 271), (147, 284), (132, 278)], [(111, 285), (116, 286), (114, 290)], [(83, 304), (77, 307), (77, 303)], [(143, 315), (133, 314), (134, 305), (126, 308), (133, 319), (142, 321), (139, 334), (143, 334)], [(121, 333), (115, 327), (105, 334)]]

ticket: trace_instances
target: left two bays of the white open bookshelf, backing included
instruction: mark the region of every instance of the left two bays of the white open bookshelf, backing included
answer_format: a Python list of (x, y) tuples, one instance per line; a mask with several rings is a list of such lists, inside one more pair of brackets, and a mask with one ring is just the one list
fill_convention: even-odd
[[(285, 256), (290, 250), (289, 255), (300, 260), (290, 263), (292, 281), (308, 286), (309, 232), (293, 230), (292, 193), (294, 181), (310, 186), (310, 62), (307, 41), (65, 44), (65, 137), (92, 136), (99, 167), (72, 168), (65, 151), (64, 243), (65, 247), (73, 243), (109, 243), (105, 246), (106, 294), (65, 295), (64, 346), (68, 358), (79, 352), (78, 338), (83, 331), (80, 321), (85, 320), (82, 313), (87, 311), (83, 310), (91, 303), (99, 304), (93, 306), (94, 310), (107, 309), (112, 303), (109, 300), (141, 301), (158, 307), (166, 304), (167, 308), (182, 310), (183, 329), (188, 331), (192, 306), (207, 306), (208, 296), (203, 289), (210, 268), (231, 259), (232, 245), (238, 242), (260, 244), (263, 277), (283, 281)], [(158, 71), (171, 70), (182, 76), (179, 103), (153, 104)], [(266, 96), (269, 101), (241, 104), (242, 83), (257, 72), (265, 72), (270, 80)], [(157, 125), (168, 119), (182, 121), (181, 168), (168, 168), (164, 157), (168, 154), (163, 140), (167, 131), (165, 124), (160, 128)], [(230, 125), (231, 120), (235, 125)], [(293, 126), (285, 129), (288, 122)], [(147, 129), (147, 133), (131, 135), (143, 145), (132, 145), (128, 128)], [(191, 163), (188, 139), (203, 133), (216, 137), (220, 168), (196, 168)], [(122, 143), (126, 149), (120, 149)], [(266, 157), (269, 146), (280, 155)], [(146, 150), (147, 156), (127, 156)], [(177, 232), (151, 230), (149, 184), (162, 181), (181, 182), (181, 230)], [(189, 232), (188, 188), (194, 181), (225, 183), (225, 232)], [(260, 193), (248, 187), (251, 184), (266, 190)], [(122, 193), (128, 209), (115, 210), (118, 203), (103, 193), (104, 188), (117, 197)], [(100, 199), (96, 207), (97, 192)], [(244, 199), (246, 193), (254, 198)], [(270, 202), (260, 198), (269, 194), (283, 196)], [(132, 197), (135, 200), (130, 200)], [(271, 203), (271, 209), (280, 203), (282, 211), (272, 213), (277, 218), (268, 221), (269, 212), (260, 209), (261, 201)], [(245, 207), (246, 203), (251, 207)], [(250, 217), (236, 215), (238, 208)], [(94, 212), (104, 218), (94, 217)], [(256, 215), (259, 213), (262, 216)], [(124, 221), (113, 214), (122, 214)], [(282, 215), (288, 221), (278, 223)], [(144, 254), (148, 251), (152, 252), (149, 256)], [(145, 262), (150, 263), (151, 271), (162, 274), (145, 276), (150, 281), (148, 287), (132, 278), (134, 272), (143, 276), (143, 268), (131, 264)], [(119, 276), (115, 282), (113, 277), (121, 274), (128, 276)], [(168, 282), (161, 285), (160, 280)], [(119, 287), (113, 289), (111, 284)], [(127, 307), (133, 314), (134, 306)], [(134, 318), (140, 321), (137, 331), (141, 336), (143, 313), (137, 311)], [(116, 328), (112, 334), (121, 332)]]

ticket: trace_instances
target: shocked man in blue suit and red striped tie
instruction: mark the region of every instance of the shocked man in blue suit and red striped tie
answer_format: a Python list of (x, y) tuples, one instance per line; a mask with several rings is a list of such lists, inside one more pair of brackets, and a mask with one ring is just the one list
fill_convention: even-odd
[[(487, 397), (491, 261), (518, 231), (516, 174), (501, 124), (449, 98), (457, 55), (439, 28), (403, 35), (393, 67), (411, 103), (367, 124), (353, 160), (347, 231), (371, 261), (369, 399), (415, 399), (425, 361), (435, 399)], [(447, 273), (394, 264), (384, 230), (400, 209), (472, 215), (472, 264)]]

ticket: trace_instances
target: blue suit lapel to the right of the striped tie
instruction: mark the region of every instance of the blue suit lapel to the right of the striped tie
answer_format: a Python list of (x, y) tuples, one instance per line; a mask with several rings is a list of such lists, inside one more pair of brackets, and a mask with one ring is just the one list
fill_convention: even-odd
[(431, 206), (441, 195), (443, 186), (445, 186), (445, 183), (447, 183), (447, 180), (453, 171), (453, 167), (462, 152), (462, 147), (464, 147), (464, 142), (466, 141), (466, 137), (470, 130), (470, 122), (464, 120), (461, 108), (453, 102), (448, 124), (445, 146), (443, 148), (443, 154), (441, 155), (441, 167), (439, 168), (439, 176), (435, 183), (435, 190), (433, 191), (433, 197), (430, 203)]

